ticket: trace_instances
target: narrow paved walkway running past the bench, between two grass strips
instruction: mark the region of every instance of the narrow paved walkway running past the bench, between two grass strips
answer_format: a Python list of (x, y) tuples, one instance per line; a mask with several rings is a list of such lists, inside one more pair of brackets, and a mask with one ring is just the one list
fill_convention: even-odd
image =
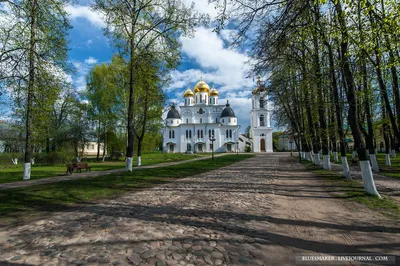
[[(218, 156), (224, 156), (224, 155), (227, 155), (227, 154), (228, 153), (216, 154), (214, 156), (218, 157)], [(141, 170), (141, 169), (158, 168), (158, 167), (164, 167), (164, 166), (171, 166), (171, 165), (177, 165), (177, 164), (182, 164), (182, 163), (200, 161), (200, 160), (205, 160), (205, 159), (211, 159), (211, 156), (205, 156), (205, 157), (200, 157), (200, 158), (195, 158), (195, 159), (190, 159), (190, 160), (184, 160), (184, 161), (177, 161), (177, 162), (159, 163), (159, 164), (152, 164), (152, 165), (146, 165), (146, 166), (133, 167), (132, 170), (133, 171), (138, 171), (138, 170)], [(125, 168), (122, 168), (122, 169), (114, 169), (114, 170), (107, 170), (107, 171), (93, 171), (93, 172), (72, 173), (72, 175), (66, 174), (66, 175), (63, 175), (63, 176), (54, 176), (54, 177), (47, 177), (47, 178), (41, 178), (41, 179), (35, 179), (35, 180), (28, 180), (28, 181), (18, 181), (18, 182), (4, 183), (4, 184), (0, 184), (0, 190), (10, 189), (10, 188), (18, 188), (18, 187), (30, 187), (30, 186), (35, 186), (35, 185), (56, 183), (56, 182), (61, 182), (61, 181), (75, 180), (75, 179), (87, 178), (87, 177), (119, 174), (119, 173), (123, 173), (125, 171), (126, 171)]]

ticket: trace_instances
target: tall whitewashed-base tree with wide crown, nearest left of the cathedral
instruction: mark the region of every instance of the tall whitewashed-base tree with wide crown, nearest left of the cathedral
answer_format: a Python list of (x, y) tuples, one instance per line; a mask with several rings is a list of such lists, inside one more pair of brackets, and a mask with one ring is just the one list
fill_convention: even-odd
[(185, 6), (181, 0), (96, 0), (93, 8), (104, 15), (106, 34), (128, 61), (126, 169), (132, 171), (136, 57), (151, 51), (167, 66), (174, 66), (179, 59), (176, 36), (191, 32), (195, 22), (193, 8)]

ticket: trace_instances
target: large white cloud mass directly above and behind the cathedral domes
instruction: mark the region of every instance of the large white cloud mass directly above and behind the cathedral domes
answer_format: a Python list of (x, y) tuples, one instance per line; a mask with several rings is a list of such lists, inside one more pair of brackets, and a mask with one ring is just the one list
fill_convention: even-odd
[(183, 99), (188, 85), (193, 86), (200, 77), (211, 86), (216, 84), (220, 92), (220, 103), (229, 100), (238, 117), (241, 132), (250, 124), (251, 91), (256, 80), (247, 78), (251, 67), (246, 64), (250, 57), (241, 51), (225, 46), (224, 41), (231, 40), (233, 30), (224, 30), (221, 35), (212, 29), (197, 28), (194, 38), (181, 37), (182, 53), (189, 57), (189, 63), (195, 63), (198, 69), (171, 72), (171, 85), (166, 89), (171, 98)]

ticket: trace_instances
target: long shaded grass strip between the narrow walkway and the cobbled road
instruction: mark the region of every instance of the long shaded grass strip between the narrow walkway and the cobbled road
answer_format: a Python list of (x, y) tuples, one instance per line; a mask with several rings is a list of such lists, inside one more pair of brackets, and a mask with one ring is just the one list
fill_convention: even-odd
[(153, 187), (214, 170), (253, 155), (226, 155), (214, 161), (201, 160), (169, 167), (142, 169), (132, 173), (106, 175), (53, 184), (0, 191), (0, 225), (26, 222), (45, 212), (63, 210), (85, 202)]

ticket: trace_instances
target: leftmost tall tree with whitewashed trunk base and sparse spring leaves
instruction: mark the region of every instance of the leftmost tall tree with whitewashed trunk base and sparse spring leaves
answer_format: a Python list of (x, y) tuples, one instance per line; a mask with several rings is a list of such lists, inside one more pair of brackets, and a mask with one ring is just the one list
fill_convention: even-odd
[(9, 2), (6, 20), (1, 25), (0, 79), (21, 95), (25, 106), (25, 165), (23, 179), (30, 179), (32, 124), (37, 99), (46, 95), (45, 85), (63, 80), (70, 28), (64, 0), (22, 0)]

